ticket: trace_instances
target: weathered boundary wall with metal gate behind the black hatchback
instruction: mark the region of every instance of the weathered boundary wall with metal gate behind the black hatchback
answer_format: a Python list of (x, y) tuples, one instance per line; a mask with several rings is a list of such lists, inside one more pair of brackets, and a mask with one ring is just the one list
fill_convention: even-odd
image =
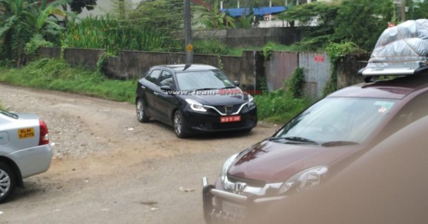
[[(66, 48), (64, 58), (73, 65), (97, 68), (102, 49)], [(41, 57), (60, 57), (60, 48), (41, 48)], [(349, 55), (338, 63), (338, 88), (362, 82), (357, 72), (366, 64), (369, 55)], [(104, 73), (112, 79), (126, 80), (142, 77), (151, 66), (159, 64), (184, 64), (184, 53), (157, 53), (121, 50), (117, 57), (110, 57)], [(268, 90), (284, 87), (284, 80), (297, 67), (304, 68), (304, 94), (312, 99), (322, 97), (324, 86), (331, 75), (331, 64), (325, 53), (273, 52), (269, 61), (257, 51), (244, 51), (242, 56), (194, 55), (197, 64), (222, 67), (224, 73), (241, 83), (244, 90), (260, 90), (266, 82)]]

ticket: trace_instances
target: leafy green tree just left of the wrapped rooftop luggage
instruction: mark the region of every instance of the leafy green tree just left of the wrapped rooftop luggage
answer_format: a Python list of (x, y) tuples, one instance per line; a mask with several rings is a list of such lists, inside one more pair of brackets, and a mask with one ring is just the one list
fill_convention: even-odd
[(344, 0), (334, 21), (333, 41), (352, 41), (372, 50), (392, 17), (391, 0)]

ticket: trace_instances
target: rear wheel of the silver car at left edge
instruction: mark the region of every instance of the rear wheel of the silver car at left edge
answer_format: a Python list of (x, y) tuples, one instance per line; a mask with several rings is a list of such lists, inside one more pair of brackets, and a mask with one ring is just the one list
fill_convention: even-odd
[(12, 168), (0, 162), (0, 203), (8, 200), (17, 185), (17, 176)]

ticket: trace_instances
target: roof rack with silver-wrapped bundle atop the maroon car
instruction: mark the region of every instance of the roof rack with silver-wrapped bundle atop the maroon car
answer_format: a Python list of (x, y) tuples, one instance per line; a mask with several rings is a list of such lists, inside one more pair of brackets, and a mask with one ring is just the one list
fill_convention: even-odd
[(420, 75), (428, 73), (428, 19), (409, 20), (380, 35), (369, 63), (358, 74)]

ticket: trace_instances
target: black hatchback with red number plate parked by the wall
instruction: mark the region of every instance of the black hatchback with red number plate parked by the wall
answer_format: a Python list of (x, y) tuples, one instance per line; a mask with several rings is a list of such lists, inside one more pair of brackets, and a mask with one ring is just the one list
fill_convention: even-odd
[(197, 132), (251, 131), (257, 125), (257, 108), (238, 85), (213, 66), (155, 66), (137, 84), (137, 119), (171, 125), (178, 138)]

